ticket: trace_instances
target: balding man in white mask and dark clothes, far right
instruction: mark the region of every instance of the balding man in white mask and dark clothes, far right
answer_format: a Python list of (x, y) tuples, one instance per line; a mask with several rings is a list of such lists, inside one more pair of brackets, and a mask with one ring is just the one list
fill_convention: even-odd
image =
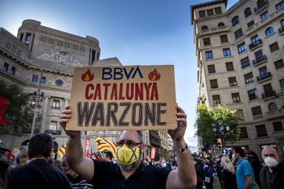
[(283, 188), (284, 164), (279, 161), (279, 154), (272, 147), (265, 147), (261, 152), (266, 164), (260, 172), (261, 188)]

